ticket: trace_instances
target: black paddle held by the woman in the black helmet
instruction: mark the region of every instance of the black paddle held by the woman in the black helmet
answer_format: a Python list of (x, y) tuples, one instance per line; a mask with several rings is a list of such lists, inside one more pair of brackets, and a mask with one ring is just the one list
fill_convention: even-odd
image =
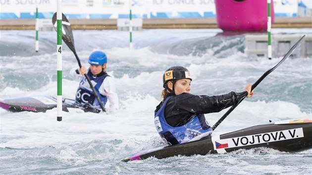
[[(287, 59), (287, 58), (291, 55), (291, 53), (294, 51), (294, 49), (298, 46), (298, 44), (299, 44), (304, 38), (305, 38), (305, 35), (302, 36), (302, 37), (298, 40), (298, 42), (297, 42), (296, 44), (294, 44), (294, 45), (289, 49), (289, 51), (286, 53), (286, 55), (283, 57), (282, 60), (280, 60), (274, 67), (272, 67), (272, 68), (270, 68), (269, 70), (267, 70), (266, 72), (264, 72), (264, 74), (256, 81), (256, 83), (254, 83), (254, 84), (252, 85), (251, 90), (254, 90), (254, 88), (256, 88), (256, 87), (260, 84), (260, 82), (262, 82), (262, 80), (263, 80), (267, 75), (269, 75), (269, 74), (270, 74), (271, 72), (273, 72), (280, 64), (282, 64), (282, 62), (284, 62), (285, 59)], [(221, 122), (236, 108), (236, 106), (238, 106), (244, 99), (245, 99), (245, 97), (242, 98), (242, 99), (240, 100), (240, 102), (237, 103), (237, 105), (232, 106), (228, 111), (226, 111), (225, 114), (212, 126), (212, 131), (214, 131), (214, 130), (216, 129), (216, 127), (218, 127), (218, 126), (220, 125), (220, 123), (221, 123)]]

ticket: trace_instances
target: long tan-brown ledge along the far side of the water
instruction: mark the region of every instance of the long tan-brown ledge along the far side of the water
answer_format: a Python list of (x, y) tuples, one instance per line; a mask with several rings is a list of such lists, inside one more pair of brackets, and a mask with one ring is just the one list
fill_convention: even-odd
[[(49, 19), (48, 19), (49, 20)], [(117, 19), (69, 19), (74, 30), (115, 30)], [(0, 19), (0, 30), (35, 30), (35, 19)], [(51, 20), (52, 25), (52, 20)], [(215, 18), (143, 19), (143, 29), (216, 29)], [(311, 17), (275, 17), (272, 28), (312, 28)]]

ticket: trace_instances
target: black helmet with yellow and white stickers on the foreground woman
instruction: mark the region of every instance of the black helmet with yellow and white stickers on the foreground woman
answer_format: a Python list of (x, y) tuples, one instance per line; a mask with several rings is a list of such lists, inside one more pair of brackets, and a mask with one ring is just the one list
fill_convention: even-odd
[(162, 76), (163, 88), (168, 81), (180, 79), (190, 79), (192, 81), (190, 71), (182, 66), (169, 67)]

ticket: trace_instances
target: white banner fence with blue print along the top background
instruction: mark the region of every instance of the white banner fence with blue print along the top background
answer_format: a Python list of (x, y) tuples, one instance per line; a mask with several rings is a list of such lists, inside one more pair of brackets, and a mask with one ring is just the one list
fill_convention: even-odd
[[(56, 0), (0, 0), (0, 19), (51, 18)], [(214, 0), (62, 0), (63, 13), (75, 19), (215, 17)], [(273, 0), (275, 16), (311, 16), (311, 0)], [(273, 15), (273, 14), (272, 14)]]

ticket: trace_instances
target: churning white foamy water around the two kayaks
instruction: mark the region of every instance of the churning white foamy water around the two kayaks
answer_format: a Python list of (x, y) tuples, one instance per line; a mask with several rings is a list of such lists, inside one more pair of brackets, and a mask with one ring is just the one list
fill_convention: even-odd
[[(310, 30), (289, 31), (311, 33)], [(293, 154), (257, 148), (223, 155), (119, 161), (129, 154), (164, 144), (154, 126), (154, 110), (161, 100), (162, 74), (166, 68), (172, 65), (187, 67), (193, 78), (191, 93), (217, 95), (242, 91), (245, 85), (254, 83), (281, 59), (250, 58), (239, 51), (244, 45), (243, 36), (215, 36), (218, 32), (143, 30), (136, 32), (136, 48), (131, 50), (127, 43), (128, 32), (74, 31), (82, 65), (88, 66), (88, 56), (94, 50), (100, 49), (107, 54), (107, 71), (115, 79), (120, 109), (113, 114), (69, 109), (69, 113), (63, 112), (61, 122), (56, 121), (56, 109), (46, 113), (9, 113), (0, 109), (0, 161), (4, 166), (0, 173), (311, 173), (312, 150)], [(29, 31), (5, 33), (10, 35), (1, 38), (1, 42), (15, 41), (18, 45), (34, 40)], [(15, 56), (0, 56), (1, 99), (56, 96), (56, 54), (53, 48), (50, 49), (54, 37), (52, 32), (45, 33), (46, 53), (23, 55), (21, 50)], [(12, 55), (11, 52), (8, 50), (3, 54)], [(287, 59), (260, 83), (254, 97), (245, 99), (213, 134), (265, 124), (269, 120), (312, 118), (311, 63), (311, 58)], [(71, 99), (79, 84), (79, 80), (68, 75), (73, 67), (78, 68), (77, 60), (64, 46), (62, 94)], [(225, 111), (205, 116), (213, 125)]]

